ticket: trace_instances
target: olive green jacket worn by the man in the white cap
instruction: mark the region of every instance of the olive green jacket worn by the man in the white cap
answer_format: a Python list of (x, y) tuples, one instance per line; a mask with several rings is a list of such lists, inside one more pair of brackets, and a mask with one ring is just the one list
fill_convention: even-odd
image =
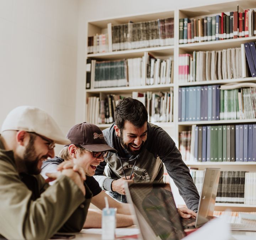
[(82, 229), (91, 200), (67, 176), (49, 186), (39, 175), (18, 174), (14, 153), (0, 141), (0, 238), (49, 239)]

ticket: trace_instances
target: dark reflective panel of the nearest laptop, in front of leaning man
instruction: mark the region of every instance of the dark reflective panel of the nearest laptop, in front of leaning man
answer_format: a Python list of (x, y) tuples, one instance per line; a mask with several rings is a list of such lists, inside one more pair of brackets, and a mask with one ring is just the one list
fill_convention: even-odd
[[(182, 239), (185, 236), (169, 184), (129, 185), (127, 199), (132, 203), (144, 239), (153, 230), (156, 239)], [(146, 223), (145, 223), (146, 222)], [(151, 238), (153, 236), (151, 235)]]

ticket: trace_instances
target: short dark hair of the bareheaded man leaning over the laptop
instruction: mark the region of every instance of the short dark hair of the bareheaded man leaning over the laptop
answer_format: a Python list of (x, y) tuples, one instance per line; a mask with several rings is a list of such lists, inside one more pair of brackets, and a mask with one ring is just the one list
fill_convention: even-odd
[(130, 97), (124, 98), (119, 101), (114, 110), (114, 119), (120, 130), (123, 129), (126, 121), (129, 121), (135, 127), (142, 127), (148, 121), (148, 112), (139, 100)]

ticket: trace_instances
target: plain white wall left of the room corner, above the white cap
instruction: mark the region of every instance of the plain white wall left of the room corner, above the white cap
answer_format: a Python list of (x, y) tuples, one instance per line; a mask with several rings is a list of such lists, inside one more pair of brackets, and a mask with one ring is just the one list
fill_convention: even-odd
[(76, 0), (0, 0), (0, 126), (18, 105), (75, 124), (77, 28)]

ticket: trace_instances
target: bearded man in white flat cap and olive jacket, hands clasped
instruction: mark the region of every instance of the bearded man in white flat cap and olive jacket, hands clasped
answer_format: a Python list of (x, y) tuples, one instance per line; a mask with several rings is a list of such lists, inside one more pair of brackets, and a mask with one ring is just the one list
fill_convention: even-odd
[(0, 135), (0, 238), (48, 239), (57, 231), (83, 227), (91, 192), (84, 170), (68, 163), (39, 174), (42, 161), (54, 156), (54, 144), (69, 144), (45, 111), (21, 106), (4, 120)]

